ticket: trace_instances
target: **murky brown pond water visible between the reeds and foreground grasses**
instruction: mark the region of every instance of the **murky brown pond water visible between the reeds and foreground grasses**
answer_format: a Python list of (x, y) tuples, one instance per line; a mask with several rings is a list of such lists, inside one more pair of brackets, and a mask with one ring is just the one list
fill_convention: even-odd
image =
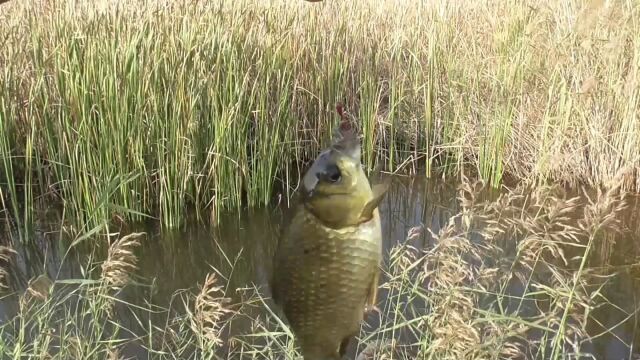
[[(456, 184), (420, 177), (394, 178), (380, 208), (384, 254), (405, 241), (407, 232), (417, 225), (437, 233), (458, 213), (456, 196)], [(624, 214), (626, 231), (611, 235), (610, 245), (597, 250), (597, 256), (606, 257), (611, 271), (617, 272), (603, 290), (616, 306), (597, 309), (601, 326), (596, 324), (590, 329), (592, 335), (599, 334), (588, 346), (597, 359), (629, 359), (640, 346), (640, 206), (635, 197), (631, 202)], [(135, 276), (152, 285), (127, 290), (127, 301), (166, 306), (177, 290), (201, 285), (213, 268), (227, 277), (229, 289), (252, 284), (266, 287), (279, 227), (290, 211), (286, 204), (280, 204), (242, 214), (222, 214), (218, 226), (194, 224), (171, 231), (161, 230), (151, 222), (136, 225), (130, 230), (144, 231), (147, 237), (136, 251), (139, 269)], [(55, 229), (55, 223), (51, 227)], [(64, 249), (57, 236), (55, 230), (43, 233), (36, 246), (19, 249), (18, 262), (11, 272), (15, 286), (24, 287), (29, 278), (43, 272), (58, 279), (83, 277), (79, 263), (86, 253), (79, 251), (62, 261)], [(430, 248), (434, 240), (423, 232), (412, 242), (416, 247)], [(0, 319), (5, 321), (16, 306), (11, 297), (1, 300)], [(605, 328), (612, 331), (604, 332)]]

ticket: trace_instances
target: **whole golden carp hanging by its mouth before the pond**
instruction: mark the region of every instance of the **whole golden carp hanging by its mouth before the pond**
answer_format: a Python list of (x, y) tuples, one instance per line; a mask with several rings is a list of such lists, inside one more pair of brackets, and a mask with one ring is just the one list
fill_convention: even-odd
[(378, 289), (387, 185), (370, 186), (355, 126), (342, 105), (337, 111), (340, 125), (303, 177), (274, 264), (273, 298), (305, 360), (344, 356)]

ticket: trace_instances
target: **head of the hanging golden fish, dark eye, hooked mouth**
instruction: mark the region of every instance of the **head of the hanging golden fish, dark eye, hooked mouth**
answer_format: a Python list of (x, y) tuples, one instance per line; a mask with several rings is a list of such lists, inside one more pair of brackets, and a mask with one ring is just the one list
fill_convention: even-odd
[(360, 140), (338, 106), (342, 122), (331, 146), (322, 151), (303, 177), (302, 202), (322, 223), (333, 228), (368, 221), (380, 198), (372, 191), (360, 158)]

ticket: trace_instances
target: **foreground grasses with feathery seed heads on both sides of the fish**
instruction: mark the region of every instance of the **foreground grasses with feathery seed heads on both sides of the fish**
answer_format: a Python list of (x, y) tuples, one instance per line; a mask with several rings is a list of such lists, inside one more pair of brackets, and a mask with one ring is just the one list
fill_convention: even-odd
[[(480, 185), (459, 187), (461, 210), (433, 234), (434, 247), (392, 249), (380, 285), (388, 298), (374, 314), (380, 326), (363, 325), (358, 359), (573, 359), (584, 351), (593, 310), (615, 306), (602, 292), (613, 273), (593, 262), (604, 234), (620, 227), (620, 183), (578, 197), (522, 185), (493, 200), (482, 199)], [(422, 231), (430, 230), (416, 227), (407, 240)], [(114, 241), (86, 279), (32, 282), (0, 325), (3, 357), (120, 359), (135, 344), (151, 359), (296, 358), (268, 290), (230, 288), (215, 269), (199, 292), (176, 293), (171, 308), (127, 302), (124, 287), (147, 286), (131, 282), (141, 241), (141, 233)]]

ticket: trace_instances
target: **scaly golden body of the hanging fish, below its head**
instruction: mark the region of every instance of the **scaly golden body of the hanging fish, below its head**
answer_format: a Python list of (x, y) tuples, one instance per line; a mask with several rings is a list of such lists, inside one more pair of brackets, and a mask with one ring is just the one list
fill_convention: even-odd
[[(287, 309), (287, 320), (306, 349), (305, 359), (330, 358), (342, 340), (360, 328), (371, 274), (380, 259), (379, 216), (376, 212), (368, 223), (336, 230), (304, 209), (298, 214), (280, 264), (289, 279), (281, 281), (274, 296)], [(318, 242), (318, 237), (325, 240)]]

